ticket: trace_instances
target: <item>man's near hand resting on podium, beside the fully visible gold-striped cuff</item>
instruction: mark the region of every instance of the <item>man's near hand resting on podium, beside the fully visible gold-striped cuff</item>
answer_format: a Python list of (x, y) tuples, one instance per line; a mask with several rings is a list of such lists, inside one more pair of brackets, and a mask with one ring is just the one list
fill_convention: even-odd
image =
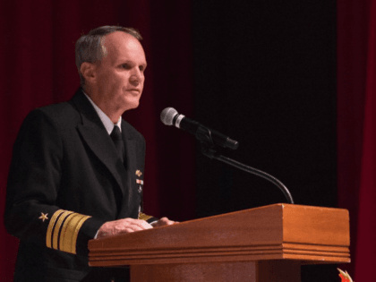
[(146, 230), (150, 228), (152, 228), (152, 226), (150, 226), (150, 224), (145, 220), (141, 219), (124, 218), (114, 221), (108, 221), (103, 226), (100, 226), (97, 239), (124, 233), (131, 233), (134, 231)]

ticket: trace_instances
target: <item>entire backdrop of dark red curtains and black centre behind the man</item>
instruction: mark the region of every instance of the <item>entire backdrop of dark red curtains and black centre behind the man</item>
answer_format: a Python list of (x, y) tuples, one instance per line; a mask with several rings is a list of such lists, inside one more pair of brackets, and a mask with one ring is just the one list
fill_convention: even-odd
[[(273, 184), (202, 156), (192, 135), (161, 124), (160, 112), (175, 107), (239, 141), (221, 153), (276, 176), (296, 204), (349, 209), (353, 262), (340, 267), (371, 278), (375, 3), (1, 1), (0, 208), (23, 118), (79, 86), (74, 42), (98, 26), (131, 26), (149, 65), (141, 106), (124, 114), (147, 141), (145, 211), (184, 221), (286, 202)], [(0, 280), (12, 281), (18, 241), (2, 220)], [(335, 265), (303, 268), (304, 282), (339, 279)]]

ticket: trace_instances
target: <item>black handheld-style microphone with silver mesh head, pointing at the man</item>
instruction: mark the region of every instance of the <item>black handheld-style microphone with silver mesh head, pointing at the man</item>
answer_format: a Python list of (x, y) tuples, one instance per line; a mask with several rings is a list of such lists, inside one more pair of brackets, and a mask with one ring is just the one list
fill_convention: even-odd
[(226, 135), (209, 129), (185, 115), (178, 114), (174, 107), (165, 108), (160, 114), (160, 120), (166, 125), (175, 125), (177, 128), (190, 132), (201, 142), (216, 144), (223, 148), (237, 149), (238, 141), (232, 140)]

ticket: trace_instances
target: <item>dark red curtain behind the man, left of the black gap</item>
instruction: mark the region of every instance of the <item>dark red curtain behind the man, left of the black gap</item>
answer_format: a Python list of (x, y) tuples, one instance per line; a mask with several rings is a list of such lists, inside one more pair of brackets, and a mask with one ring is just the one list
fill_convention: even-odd
[[(130, 26), (144, 38), (149, 64), (145, 90), (141, 106), (124, 118), (147, 142), (145, 211), (175, 220), (193, 218), (194, 140), (179, 139), (159, 121), (165, 107), (192, 113), (190, 1), (1, 1), (0, 21), (0, 281), (13, 280), (18, 246), (3, 225), (16, 134), (31, 109), (73, 97), (79, 87), (74, 43), (98, 26)], [(174, 148), (168, 148), (167, 135), (175, 136)]]

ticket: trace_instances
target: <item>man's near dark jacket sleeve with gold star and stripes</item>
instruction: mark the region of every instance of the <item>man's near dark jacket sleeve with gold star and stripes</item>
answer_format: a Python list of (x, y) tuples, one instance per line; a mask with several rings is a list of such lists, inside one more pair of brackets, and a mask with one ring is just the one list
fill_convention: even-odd
[(42, 110), (32, 111), (13, 146), (4, 225), (22, 241), (71, 253), (88, 253), (88, 241), (105, 222), (56, 206), (63, 138)]

